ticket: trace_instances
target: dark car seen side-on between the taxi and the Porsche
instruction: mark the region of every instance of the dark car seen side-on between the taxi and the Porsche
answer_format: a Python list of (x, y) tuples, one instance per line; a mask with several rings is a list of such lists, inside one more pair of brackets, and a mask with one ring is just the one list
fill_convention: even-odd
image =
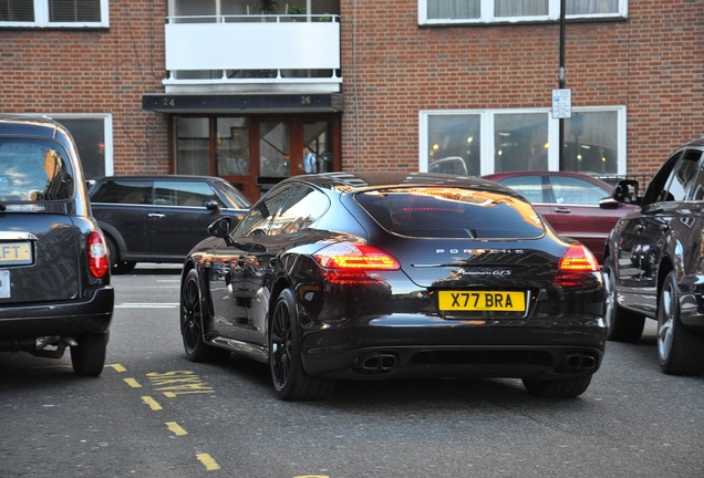
[(219, 216), (241, 218), (251, 202), (225, 179), (210, 176), (108, 176), (91, 188), (113, 273), (137, 262), (183, 263)]

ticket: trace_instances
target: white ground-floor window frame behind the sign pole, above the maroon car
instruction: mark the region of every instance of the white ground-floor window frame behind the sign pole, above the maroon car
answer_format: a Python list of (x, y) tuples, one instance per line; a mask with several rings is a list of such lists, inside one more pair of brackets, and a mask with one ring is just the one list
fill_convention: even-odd
[[(627, 108), (624, 105), (614, 106), (581, 106), (572, 107), (573, 113), (599, 113), (615, 112), (618, 133), (617, 133), (617, 172), (614, 174), (623, 176), (627, 174)], [(497, 115), (505, 114), (530, 114), (545, 113), (548, 117), (548, 143), (556, 145), (560, 137), (560, 121), (552, 117), (551, 108), (495, 108), (495, 110), (424, 110), (418, 113), (418, 170), (427, 173), (428, 170), (428, 153), (431, 145), (428, 142), (428, 118), (429, 116), (441, 115), (470, 115), (480, 117), (479, 139), (480, 139), (480, 175), (493, 174), (495, 172), (495, 124), (494, 119)], [(548, 148), (548, 170), (560, 170), (559, 149), (555, 147)]]

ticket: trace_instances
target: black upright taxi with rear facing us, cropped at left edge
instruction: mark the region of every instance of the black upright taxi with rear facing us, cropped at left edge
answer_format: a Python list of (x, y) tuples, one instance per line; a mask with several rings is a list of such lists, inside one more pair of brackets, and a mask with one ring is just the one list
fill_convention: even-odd
[(114, 291), (105, 240), (69, 132), (0, 115), (0, 351), (105, 364)]

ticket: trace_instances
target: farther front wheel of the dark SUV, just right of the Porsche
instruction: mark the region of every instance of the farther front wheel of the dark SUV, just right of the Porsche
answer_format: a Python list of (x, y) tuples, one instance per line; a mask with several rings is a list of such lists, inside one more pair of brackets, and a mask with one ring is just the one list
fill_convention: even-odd
[(619, 305), (614, 287), (614, 267), (611, 256), (604, 259), (601, 268), (607, 289), (607, 300), (604, 301), (603, 319), (607, 322), (607, 339), (613, 342), (635, 343), (643, 335), (645, 326), (645, 315), (631, 312)]

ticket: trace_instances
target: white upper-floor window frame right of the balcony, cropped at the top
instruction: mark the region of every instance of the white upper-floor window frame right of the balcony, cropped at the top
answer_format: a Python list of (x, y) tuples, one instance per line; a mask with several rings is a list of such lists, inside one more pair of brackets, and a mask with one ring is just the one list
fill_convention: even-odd
[[(480, 0), (480, 13), (477, 19), (428, 19), (427, 4), (435, 0), (418, 0), (418, 24), (420, 25), (445, 25), (445, 24), (482, 24), (482, 23), (524, 23), (537, 21), (558, 21), (560, 19), (560, 0), (549, 0), (547, 15), (529, 17), (495, 17), (494, 6), (496, 0)], [(598, 14), (568, 14), (566, 19), (625, 19), (628, 18), (628, 0), (619, 0), (619, 11), (613, 13)]]

